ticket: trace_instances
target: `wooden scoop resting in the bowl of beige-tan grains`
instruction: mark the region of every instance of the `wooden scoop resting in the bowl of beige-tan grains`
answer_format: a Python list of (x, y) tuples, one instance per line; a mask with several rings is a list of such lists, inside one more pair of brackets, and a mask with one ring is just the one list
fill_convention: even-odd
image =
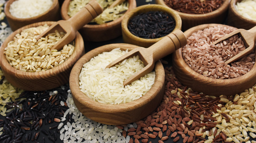
[(59, 51), (64, 45), (69, 44), (75, 39), (75, 33), (77, 30), (82, 28), (85, 24), (88, 24), (102, 12), (103, 9), (98, 2), (96, 2), (96, 0), (91, 0), (69, 20), (60, 20), (52, 24), (46, 31), (39, 35), (36, 40), (39, 40), (41, 37), (45, 37), (50, 33), (54, 33), (55, 30), (65, 32), (66, 35), (51, 48), (51, 50), (56, 49)]

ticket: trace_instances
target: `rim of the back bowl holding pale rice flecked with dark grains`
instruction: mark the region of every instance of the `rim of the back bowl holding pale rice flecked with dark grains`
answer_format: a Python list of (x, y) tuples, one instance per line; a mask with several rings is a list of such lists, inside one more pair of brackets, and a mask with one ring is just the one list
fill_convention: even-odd
[[(61, 17), (62, 19), (64, 20), (68, 20), (70, 17), (68, 15), (68, 7), (69, 7), (69, 3), (70, 1), (72, 0), (65, 0), (61, 6)], [(109, 23), (104, 23), (104, 24), (94, 24), (94, 25), (91, 25), (91, 24), (86, 24), (83, 26), (83, 28), (90, 28), (90, 29), (94, 29), (96, 31), (96, 29), (100, 28), (101, 30), (106, 30), (108, 29), (109, 27), (112, 27), (112, 26), (115, 26), (115, 25), (118, 25), (121, 23), (123, 17), (131, 10), (133, 9), (133, 7), (136, 7), (136, 0), (128, 0), (128, 3), (129, 3), (129, 7), (127, 9), (127, 11), (119, 18), (117, 18), (116, 20), (112, 21), (112, 22), (109, 22)]]

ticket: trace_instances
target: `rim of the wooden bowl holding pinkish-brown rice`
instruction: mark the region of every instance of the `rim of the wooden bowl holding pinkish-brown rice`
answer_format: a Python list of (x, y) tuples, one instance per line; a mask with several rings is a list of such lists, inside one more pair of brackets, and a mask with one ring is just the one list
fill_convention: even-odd
[[(192, 34), (198, 30), (202, 30), (202, 29), (205, 29), (205, 28), (208, 28), (208, 27), (213, 27), (213, 26), (218, 26), (218, 25), (221, 25), (221, 26), (224, 26), (224, 27), (232, 27), (232, 26), (229, 26), (229, 25), (224, 25), (224, 24), (202, 24), (202, 25), (198, 25), (198, 26), (195, 26), (195, 27), (192, 27), (192, 28), (189, 28), (188, 30), (186, 30), (184, 32), (185, 35), (188, 35), (188, 34)], [(197, 29), (198, 27), (200, 27), (200, 29)], [(196, 30), (197, 29), (197, 30)], [(191, 35), (190, 35), (191, 36)], [(188, 36), (189, 37), (189, 36)], [(255, 49), (256, 51), (256, 49)], [(225, 83), (225, 82), (237, 82), (237, 81), (246, 81), (247, 79), (244, 78), (245, 76), (248, 76), (248, 75), (252, 75), (252, 72), (253, 71), (256, 71), (256, 63), (254, 63), (252, 69), (250, 71), (248, 71), (246, 74), (240, 76), (240, 77), (236, 77), (236, 78), (231, 78), (231, 79), (214, 79), (214, 78), (210, 78), (210, 77), (206, 77), (202, 74), (199, 74), (197, 73), (196, 71), (192, 70), (189, 66), (187, 66), (187, 64), (185, 63), (183, 57), (182, 57), (182, 48), (176, 50), (176, 52), (174, 53), (178, 59), (182, 59), (182, 60), (175, 60), (175, 61), (178, 61), (181, 63), (181, 65), (184, 65), (184, 69), (190, 73), (193, 73), (194, 75), (196, 75), (197, 77), (200, 77), (200, 79), (203, 79), (202, 81), (209, 81), (213, 84), (219, 84), (219, 83)], [(256, 57), (256, 54), (255, 54), (255, 57)], [(186, 65), (186, 66), (185, 66)], [(195, 80), (194, 77), (192, 77), (192, 80)]]

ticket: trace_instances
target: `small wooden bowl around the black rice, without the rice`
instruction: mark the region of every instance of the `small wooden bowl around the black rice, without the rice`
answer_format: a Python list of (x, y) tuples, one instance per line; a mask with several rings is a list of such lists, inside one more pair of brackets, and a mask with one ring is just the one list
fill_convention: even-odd
[(157, 41), (161, 40), (163, 37), (161, 38), (156, 38), (156, 39), (144, 39), (144, 38), (139, 38), (135, 35), (133, 35), (129, 30), (128, 30), (128, 23), (130, 21), (131, 18), (139, 15), (140, 13), (145, 13), (145, 12), (149, 12), (149, 11), (163, 11), (165, 13), (168, 13), (170, 16), (173, 17), (173, 19), (176, 22), (176, 26), (174, 28), (173, 31), (180, 29), (181, 30), (181, 17), (179, 16), (179, 14), (168, 7), (164, 7), (161, 5), (144, 5), (144, 6), (139, 6), (137, 8), (134, 8), (133, 10), (131, 10), (129, 13), (127, 13), (123, 20), (122, 20), (122, 36), (123, 36), (123, 41), (125, 43), (129, 43), (129, 44), (134, 44), (134, 45), (138, 45), (141, 47), (145, 47), (148, 48), (151, 45), (153, 45), (154, 43), (156, 43)]

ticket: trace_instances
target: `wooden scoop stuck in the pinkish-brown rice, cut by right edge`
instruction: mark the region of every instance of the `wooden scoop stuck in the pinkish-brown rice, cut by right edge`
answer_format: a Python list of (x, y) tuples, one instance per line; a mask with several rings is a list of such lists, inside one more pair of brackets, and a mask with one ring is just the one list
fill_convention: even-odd
[(256, 40), (256, 26), (252, 27), (249, 30), (245, 30), (245, 29), (237, 29), (227, 35), (225, 35), (224, 37), (220, 38), (219, 40), (213, 42), (213, 45), (218, 44), (219, 42), (226, 40), (227, 38), (234, 36), (238, 34), (239, 37), (242, 38), (242, 40), (245, 43), (245, 47), (246, 49), (243, 50), (242, 52), (238, 53), (237, 55), (231, 57), (230, 59), (228, 59), (227, 61), (225, 61), (226, 64), (232, 63), (242, 57), (244, 57), (245, 55), (248, 55), (249, 53), (252, 52), (253, 48), (254, 48), (254, 43)]

